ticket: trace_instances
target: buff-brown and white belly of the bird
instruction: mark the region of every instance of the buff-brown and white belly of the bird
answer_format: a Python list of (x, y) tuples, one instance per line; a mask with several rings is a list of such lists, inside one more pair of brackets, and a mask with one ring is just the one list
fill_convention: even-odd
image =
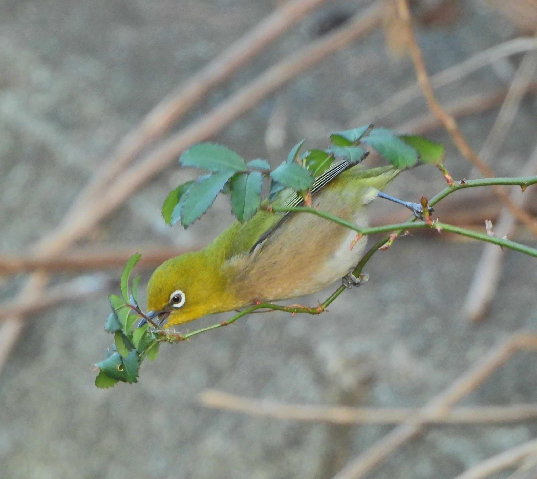
[[(360, 206), (374, 196), (374, 192), (362, 196)], [(357, 208), (356, 198), (338, 202), (323, 199), (316, 202), (320, 210), (367, 226), (365, 208)], [(349, 228), (315, 215), (295, 214), (258, 252), (237, 261), (235, 288), (250, 302), (276, 301), (324, 289), (352, 271), (364, 254), (367, 238), (361, 238), (351, 249), (355, 236)]]

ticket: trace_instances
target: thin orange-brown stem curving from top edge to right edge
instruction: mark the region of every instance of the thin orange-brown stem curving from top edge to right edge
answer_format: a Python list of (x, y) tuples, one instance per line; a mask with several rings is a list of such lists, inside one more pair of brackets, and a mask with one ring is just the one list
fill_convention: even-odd
[[(398, 14), (402, 20), (402, 25), (404, 25), (405, 29), (407, 30), (406, 38), (408, 41), (410, 55), (412, 56), (412, 61), (414, 63), (414, 68), (416, 70), (418, 85), (422, 89), (423, 96), (427, 101), (427, 105), (429, 105), (429, 109), (433, 115), (436, 116), (444, 125), (446, 131), (451, 136), (461, 155), (473, 163), (481, 171), (481, 173), (483, 173), (483, 175), (488, 176), (489, 178), (494, 177), (494, 171), (492, 171), (487, 163), (479, 158), (479, 156), (470, 147), (466, 141), (466, 138), (459, 130), (456, 120), (452, 116), (448, 115), (448, 113), (442, 108), (438, 102), (438, 99), (436, 98), (436, 95), (434, 94), (431, 80), (429, 75), (427, 75), (427, 69), (423, 60), (422, 51), (420, 50), (414, 36), (407, 0), (396, 0), (396, 5)], [(492, 189), (496, 195), (498, 195), (499, 198), (502, 199), (502, 201), (507, 205), (507, 208), (509, 208), (511, 213), (516, 216), (519, 221), (523, 222), (534, 235), (537, 236), (537, 220), (529, 215), (526, 211), (519, 208), (519, 206), (511, 200), (509, 194), (503, 187), (495, 186), (492, 187)]]

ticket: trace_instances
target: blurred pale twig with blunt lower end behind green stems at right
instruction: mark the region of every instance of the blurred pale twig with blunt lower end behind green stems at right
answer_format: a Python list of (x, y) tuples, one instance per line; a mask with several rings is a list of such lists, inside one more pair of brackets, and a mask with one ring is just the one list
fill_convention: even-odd
[[(524, 169), (524, 175), (535, 174), (537, 174), (537, 147)], [(521, 208), (525, 208), (531, 199), (531, 196), (522, 192), (518, 187), (513, 188), (511, 191), (511, 200)], [(515, 218), (509, 213), (507, 209), (503, 209), (500, 212), (494, 228), (498, 237), (511, 233), (516, 226)], [(502, 273), (502, 259), (503, 251), (501, 248), (490, 248), (489, 245), (485, 245), (462, 307), (462, 315), (467, 320), (478, 321), (484, 318), (484, 314), (487, 312), (487, 308), (498, 287), (500, 274)]]

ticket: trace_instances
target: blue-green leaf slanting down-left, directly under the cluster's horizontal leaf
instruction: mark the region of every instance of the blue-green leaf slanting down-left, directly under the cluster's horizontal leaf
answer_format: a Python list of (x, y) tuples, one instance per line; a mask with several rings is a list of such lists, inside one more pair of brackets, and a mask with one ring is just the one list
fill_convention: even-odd
[(171, 224), (173, 225), (180, 220), (186, 228), (203, 216), (234, 173), (234, 171), (224, 171), (223, 173), (200, 176), (192, 183), (192, 186), (188, 188), (186, 194), (173, 209)]

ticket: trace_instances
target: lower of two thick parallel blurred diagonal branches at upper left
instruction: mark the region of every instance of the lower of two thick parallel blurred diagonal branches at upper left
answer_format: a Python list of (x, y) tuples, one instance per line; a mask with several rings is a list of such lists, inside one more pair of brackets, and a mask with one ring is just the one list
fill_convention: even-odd
[(90, 211), (74, 218), (69, 224), (63, 224), (63, 227), (47, 240), (46, 247), (54, 245), (56, 251), (58, 251), (57, 248), (61, 251), (64, 245), (69, 245), (90, 232), (101, 218), (109, 215), (133, 191), (142, 187), (150, 178), (175, 161), (188, 146), (211, 137), (282, 84), (320, 62), (325, 56), (371, 32), (380, 25), (381, 17), (381, 5), (375, 3), (357, 13), (334, 33), (322, 37), (269, 68), (256, 80), (216, 106), (210, 113), (166, 140), (138, 165), (125, 171), (104, 194), (95, 200)]

